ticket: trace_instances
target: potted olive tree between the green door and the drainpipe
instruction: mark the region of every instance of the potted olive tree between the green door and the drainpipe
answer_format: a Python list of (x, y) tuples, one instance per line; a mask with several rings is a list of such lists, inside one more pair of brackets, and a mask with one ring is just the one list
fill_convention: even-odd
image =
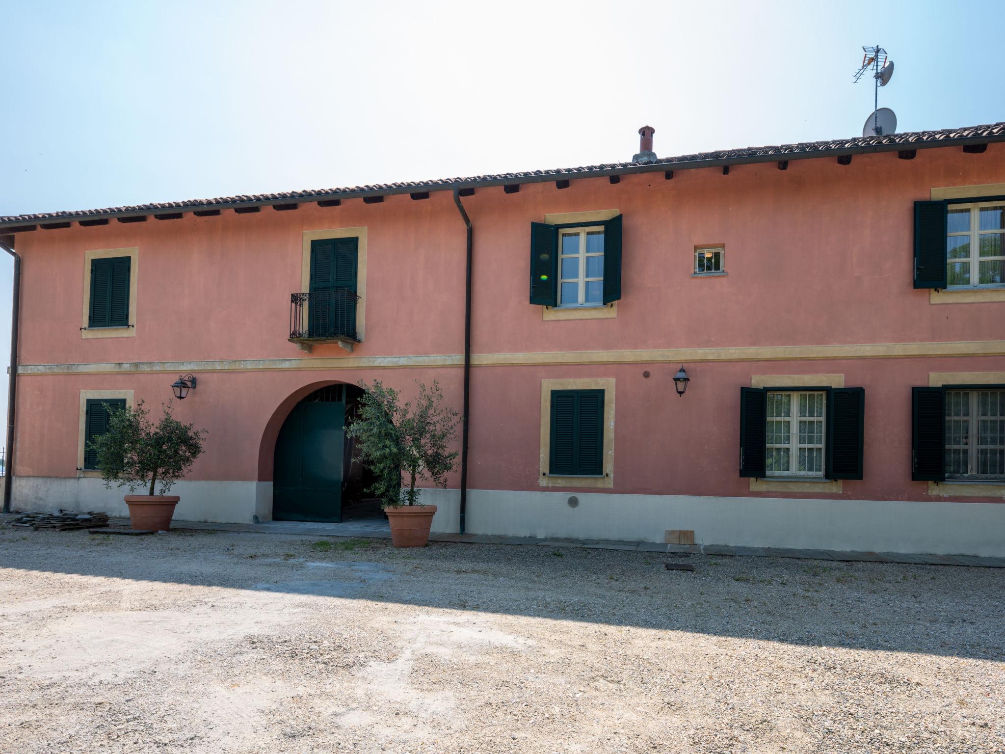
[[(359, 459), (375, 482), (369, 492), (384, 503), (395, 547), (423, 547), (429, 541), (436, 506), (419, 502), (418, 480), (446, 487), (446, 476), (457, 467), (459, 414), (442, 405), (439, 383), (419, 384), (414, 400), (401, 402), (400, 393), (374, 380), (361, 382), (365, 391), (356, 404), (348, 434), (356, 440)], [(406, 481), (402, 484), (402, 479)]]

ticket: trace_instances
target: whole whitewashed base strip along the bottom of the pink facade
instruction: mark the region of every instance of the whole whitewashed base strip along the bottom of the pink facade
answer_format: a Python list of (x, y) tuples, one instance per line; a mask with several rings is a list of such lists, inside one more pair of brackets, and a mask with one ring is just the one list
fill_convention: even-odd
[[(181, 521), (251, 523), (271, 518), (269, 482), (179, 482)], [(126, 516), (122, 490), (100, 480), (20, 477), (15, 510), (100, 510)], [(1005, 502), (701, 498), (675, 495), (470, 490), (468, 534), (663, 542), (667, 529), (690, 529), (706, 545), (792, 547), (1005, 557)], [(432, 531), (457, 531), (457, 490), (423, 490), (437, 507)]]

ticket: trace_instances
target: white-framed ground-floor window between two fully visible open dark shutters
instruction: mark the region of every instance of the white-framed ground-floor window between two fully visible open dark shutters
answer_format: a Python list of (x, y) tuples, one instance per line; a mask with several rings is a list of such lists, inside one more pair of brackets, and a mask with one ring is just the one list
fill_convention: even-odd
[(803, 390), (767, 397), (767, 475), (822, 478), (827, 394)]

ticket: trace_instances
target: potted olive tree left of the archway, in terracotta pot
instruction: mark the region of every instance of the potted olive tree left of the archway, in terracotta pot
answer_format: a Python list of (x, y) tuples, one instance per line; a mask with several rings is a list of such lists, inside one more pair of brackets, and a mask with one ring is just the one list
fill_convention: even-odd
[[(109, 490), (115, 484), (128, 487), (125, 497), (134, 529), (167, 531), (180, 498), (168, 495), (171, 487), (188, 472), (199, 454), (205, 429), (183, 424), (163, 405), (163, 415), (154, 424), (140, 401), (135, 408), (110, 407), (109, 427), (89, 443), (97, 455), (97, 468)], [(159, 494), (155, 488), (160, 485)], [(147, 495), (133, 495), (137, 489)]]

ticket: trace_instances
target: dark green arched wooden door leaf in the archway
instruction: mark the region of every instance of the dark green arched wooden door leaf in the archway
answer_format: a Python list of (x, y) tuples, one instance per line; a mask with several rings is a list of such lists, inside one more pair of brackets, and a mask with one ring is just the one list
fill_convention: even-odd
[(297, 403), (275, 441), (272, 518), (342, 521), (344, 402)]

